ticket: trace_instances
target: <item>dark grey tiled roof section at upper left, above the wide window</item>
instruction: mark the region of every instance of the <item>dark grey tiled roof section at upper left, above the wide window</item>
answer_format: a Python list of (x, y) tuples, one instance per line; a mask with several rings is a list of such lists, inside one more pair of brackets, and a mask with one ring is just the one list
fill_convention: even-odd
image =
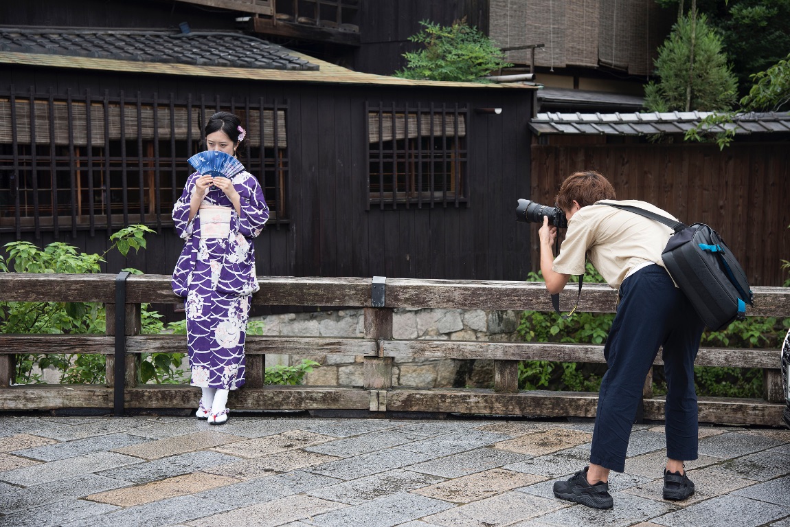
[(0, 51), (261, 70), (318, 70), (266, 40), (231, 32), (0, 28)]

